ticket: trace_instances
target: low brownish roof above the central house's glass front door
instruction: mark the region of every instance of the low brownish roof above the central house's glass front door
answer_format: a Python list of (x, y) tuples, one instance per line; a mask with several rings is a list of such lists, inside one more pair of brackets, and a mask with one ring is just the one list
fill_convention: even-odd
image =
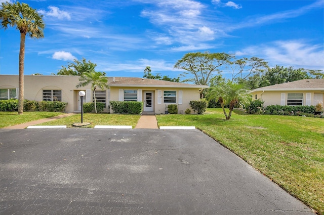
[(109, 78), (110, 87), (160, 87), (160, 88), (209, 88), (208, 85), (179, 83), (166, 80), (147, 79), (139, 77), (113, 77)]

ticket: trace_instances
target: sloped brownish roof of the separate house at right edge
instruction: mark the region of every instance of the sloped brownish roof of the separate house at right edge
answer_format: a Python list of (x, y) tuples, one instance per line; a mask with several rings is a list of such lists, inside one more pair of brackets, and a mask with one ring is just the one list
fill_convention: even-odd
[(324, 79), (303, 79), (275, 84), (251, 91), (324, 91)]

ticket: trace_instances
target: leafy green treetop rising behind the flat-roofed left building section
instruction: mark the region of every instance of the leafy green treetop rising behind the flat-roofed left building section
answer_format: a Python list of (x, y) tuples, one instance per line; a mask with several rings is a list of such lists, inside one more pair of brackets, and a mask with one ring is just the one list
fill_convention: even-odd
[[(92, 63), (90, 60), (87, 62), (85, 58), (81, 61), (74, 59), (73, 63), (69, 62), (67, 66), (62, 66), (56, 75), (77, 75), (81, 76), (86, 72), (95, 72), (97, 64)], [(100, 72), (101, 76), (105, 76), (105, 72)], [(55, 75), (55, 74), (54, 74)]]

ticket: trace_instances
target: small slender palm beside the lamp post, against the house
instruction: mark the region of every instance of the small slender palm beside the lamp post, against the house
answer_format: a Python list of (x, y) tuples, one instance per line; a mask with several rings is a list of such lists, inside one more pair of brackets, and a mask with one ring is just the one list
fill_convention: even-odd
[(86, 85), (91, 84), (91, 90), (93, 91), (93, 97), (95, 100), (95, 112), (97, 113), (96, 89), (97, 87), (102, 90), (108, 88), (107, 77), (102, 76), (102, 72), (89, 71), (84, 72), (79, 78), (79, 81), (79, 84), (76, 85), (77, 88), (86, 87)]

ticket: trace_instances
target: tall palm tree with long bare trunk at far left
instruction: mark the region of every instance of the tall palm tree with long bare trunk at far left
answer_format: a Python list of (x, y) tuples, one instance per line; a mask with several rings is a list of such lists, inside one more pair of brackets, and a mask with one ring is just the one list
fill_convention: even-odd
[(2, 28), (6, 30), (9, 25), (20, 31), (18, 114), (22, 114), (24, 110), (25, 39), (26, 35), (31, 38), (44, 37), (45, 24), (42, 18), (43, 15), (39, 15), (35, 9), (25, 3), (3, 2), (0, 9)]

